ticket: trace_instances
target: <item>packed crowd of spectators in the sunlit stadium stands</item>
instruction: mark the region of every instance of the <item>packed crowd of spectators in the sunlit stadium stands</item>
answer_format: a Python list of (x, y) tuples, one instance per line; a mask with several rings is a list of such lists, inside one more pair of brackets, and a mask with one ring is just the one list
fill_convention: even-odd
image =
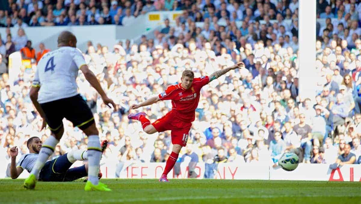
[[(94, 113), (101, 139), (109, 141), (105, 162), (119, 161), (120, 171), (134, 162), (166, 161), (172, 146), (170, 132), (145, 134), (140, 123), (127, 119), (130, 105), (179, 83), (185, 69), (200, 77), (243, 61), (245, 69), (230, 71), (202, 89), (179, 163), (273, 165), (285, 151), (295, 152), (305, 163), (332, 164), (337, 158), (337, 163), (361, 163), (359, 1), (317, 0), (319, 21), (326, 23), (325, 27), (317, 23), (316, 72), (310, 73), (318, 77), (314, 98), (298, 96), (297, 0), (194, 2), (9, 0), (9, 7), (0, 11), (0, 23), (19, 27), (19, 32), (2, 36), (1, 56), (5, 59), (23, 49), (23, 56), (30, 52), (32, 58), (38, 57), (32, 55), (35, 51), (21, 27), (128, 25), (149, 11), (183, 10), (174, 24), (165, 20), (164, 28), (154, 32), (155, 39), (143, 36), (139, 44), (128, 40), (110, 48), (89, 42), (83, 50), (91, 70), (119, 106), (118, 112), (112, 112), (79, 74), (79, 92)], [(235, 21), (242, 21), (242, 26)], [(204, 22), (203, 27), (195, 22)], [(41, 46), (39, 54), (46, 50)], [(21, 67), (19, 79), (9, 84), (6, 66), (0, 64), (1, 73), (5, 72), (0, 79), (1, 162), (9, 160), (10, 147), (18, 146), (24, 154), (27, 138), (38, 135), (45, 141), (50, 135), (49, 129), (38, 132), (42, 119), (29, 98), (35, 68)], [(153, 122), (171, 106), (170, 101), (160, 101), (136, 111), (145, 111)], [(69, 121), (64, 124), (55, 157), (87, 147), (82, 132)], [(206, 170), (206, 177), (212, 178), (212, 172)]]

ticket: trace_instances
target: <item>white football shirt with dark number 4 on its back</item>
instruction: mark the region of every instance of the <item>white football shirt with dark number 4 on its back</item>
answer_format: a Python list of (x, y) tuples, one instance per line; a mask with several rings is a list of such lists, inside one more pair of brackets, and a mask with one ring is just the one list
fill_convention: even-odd
[(46, 103), (78, 94), (79, 68), (86, 65), (82, 52), (60, 47), (45, 54), (38, 63), (32, 86), (40, 87), (38, 102)]

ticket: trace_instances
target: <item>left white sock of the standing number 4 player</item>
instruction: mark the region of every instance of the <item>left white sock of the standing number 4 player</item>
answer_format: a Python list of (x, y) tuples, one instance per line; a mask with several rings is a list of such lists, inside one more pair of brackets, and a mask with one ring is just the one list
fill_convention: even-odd
[(45, 162), (49, 159), (54, 152), (55, 146), (59, 143), (54, 136), (50, 136), (43, 144), (38, 159), (36, 159), (34, 167), (31, 170), (31, 173), (35, 175), (36, 179), (39, 179), (40, 170), (44, 167)]

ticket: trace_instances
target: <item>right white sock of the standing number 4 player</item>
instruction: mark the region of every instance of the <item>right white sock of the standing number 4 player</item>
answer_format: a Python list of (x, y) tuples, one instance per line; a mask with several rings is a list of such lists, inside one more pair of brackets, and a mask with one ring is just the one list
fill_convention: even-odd
[(88, 180), (93, 185), (98, 185), (99, 183), (99, 165), (101, 159), (101, 148), (99, 136), (91, 135), (88, 137)]

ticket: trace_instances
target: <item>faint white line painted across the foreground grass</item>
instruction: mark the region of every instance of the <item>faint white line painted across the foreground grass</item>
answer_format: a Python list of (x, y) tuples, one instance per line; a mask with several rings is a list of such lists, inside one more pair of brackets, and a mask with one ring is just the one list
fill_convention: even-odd
[[(290, 195), (291, 196), (291, 195)], [(163, 197), (163, 198), (129, 198), (129, 199), (101, 199), (101, 200), (71, 200), (71, 203), (78, 203), (78, 204), (88, 204), (88, 203), (127, 203), (127, 202), (141, 202), (141, 201), (174, 201), (174, 200), (203, 200), (203, 199), (242, 199), (242, 198), (250, 198), (250, 199), (267, 199), (267, 198), (287, 198), (290, 196), (286, 195), (245, 195), (245, 196), (188, 196), (188, 197)], [(292, 195), (292, 197), (297, 198), (316, 198), (324, 195)], [(345, 198), (345, 197), (361, 197), (361, 195), (332, 195), (329, 197), (335, 198)], [(62, 201), (43, 201), (43, 202), (36, 202), (37, 204), (63, 204), (65, 200)], [(18, 204), (32, 204), (34, 202), (22, 202)], [(13, 202), (3, 203), (3, 204), (13, 204)]]

